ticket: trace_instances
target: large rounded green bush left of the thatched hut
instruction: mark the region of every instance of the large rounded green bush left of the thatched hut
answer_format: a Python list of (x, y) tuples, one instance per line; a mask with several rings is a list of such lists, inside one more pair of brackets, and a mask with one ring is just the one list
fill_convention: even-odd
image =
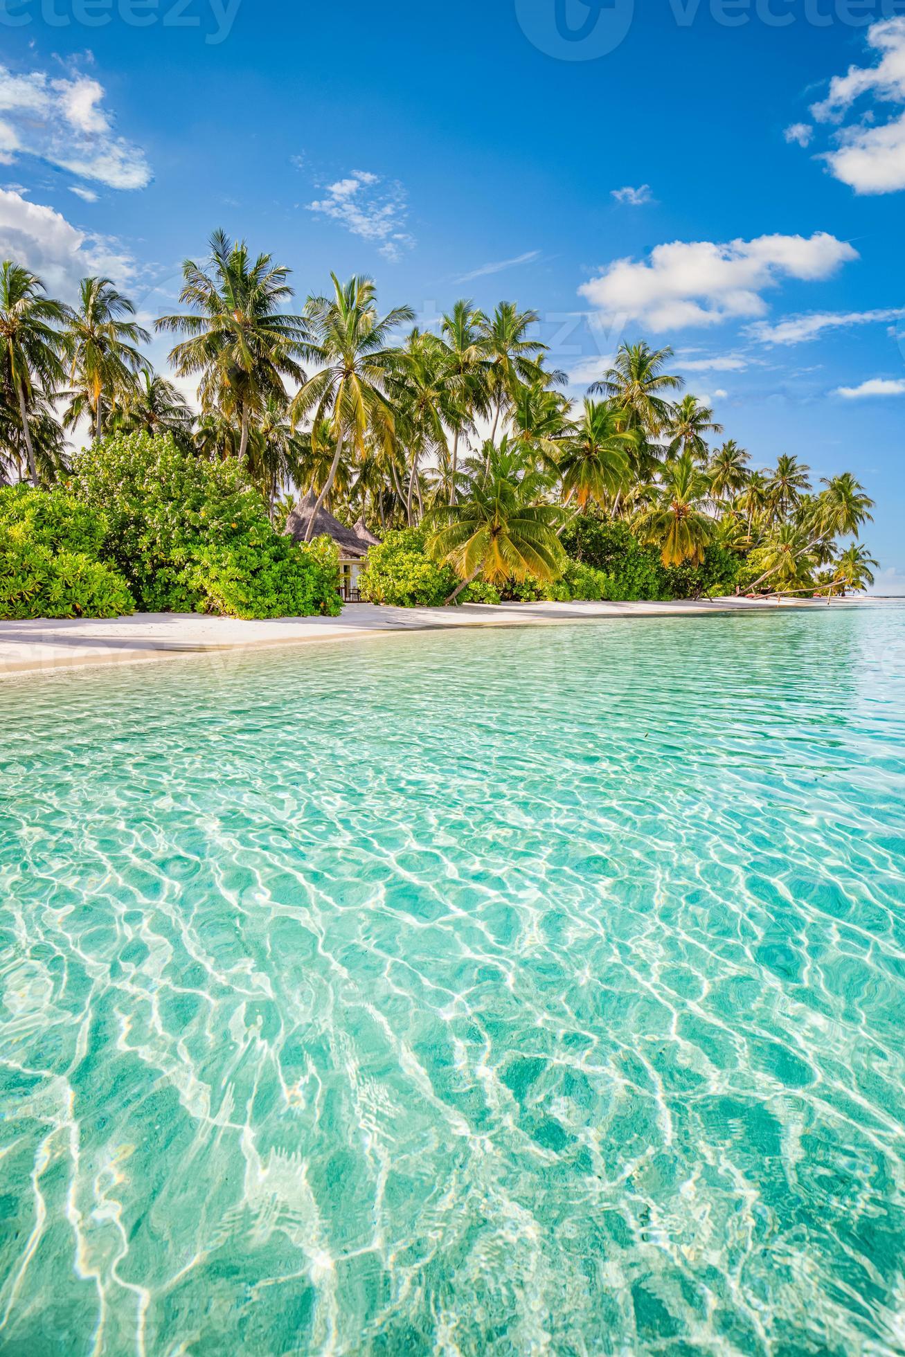
[(126, 577), (141, 611), (236, 617), (339, 611), (335, 551), (281, 537), (236, 460), (195, 457), (170, 434), (117, 434), (76, 459), (73, 489), (103, 508), (103, 555)]

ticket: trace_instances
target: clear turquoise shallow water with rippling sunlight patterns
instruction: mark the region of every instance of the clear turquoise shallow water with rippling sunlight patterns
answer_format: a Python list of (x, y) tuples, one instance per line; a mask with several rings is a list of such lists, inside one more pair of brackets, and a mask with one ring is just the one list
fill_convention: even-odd
[(905, 609), (0, 712), (0, 1352), (905, 1350)]

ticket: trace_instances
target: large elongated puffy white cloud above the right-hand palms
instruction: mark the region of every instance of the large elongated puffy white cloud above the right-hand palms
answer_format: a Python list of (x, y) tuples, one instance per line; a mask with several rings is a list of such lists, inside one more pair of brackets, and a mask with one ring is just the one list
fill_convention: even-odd
[(783, 277), (828, 278), (858, 251), (818, 231), (813, 236), (757, 236), (657, 246), (647, 261), (616, 259), (578, 292), (608, 316), (640, 320), (650, 330), (716, 324), (760, 316), (761, 292)]

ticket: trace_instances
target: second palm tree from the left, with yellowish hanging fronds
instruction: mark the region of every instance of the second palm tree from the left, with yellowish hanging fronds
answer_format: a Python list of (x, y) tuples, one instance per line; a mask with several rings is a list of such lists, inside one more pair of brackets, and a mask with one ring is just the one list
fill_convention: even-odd
[(136, 392), (137, 375), (147, 366), (136, 347), (151, 338), (130, 320), (136, 308), (117, 292), (110, 278), (83, 278), (79, 305), (68, 312), (65, 350), (72, 400), (65, 422), (90, 414), (94, 437), (103, 433), (104, 413), (126, 404)]

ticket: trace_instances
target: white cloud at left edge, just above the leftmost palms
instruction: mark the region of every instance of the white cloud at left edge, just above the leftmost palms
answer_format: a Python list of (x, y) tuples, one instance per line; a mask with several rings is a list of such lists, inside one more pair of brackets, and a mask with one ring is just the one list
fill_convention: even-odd
[(115, 240), (79, 231), (53, 208), (8, 189), (0, 189), (0, 258), (26, 265), (64, 300), (75, 297), (87, 274), (126, 284), (136, 273), (134, 259)]

